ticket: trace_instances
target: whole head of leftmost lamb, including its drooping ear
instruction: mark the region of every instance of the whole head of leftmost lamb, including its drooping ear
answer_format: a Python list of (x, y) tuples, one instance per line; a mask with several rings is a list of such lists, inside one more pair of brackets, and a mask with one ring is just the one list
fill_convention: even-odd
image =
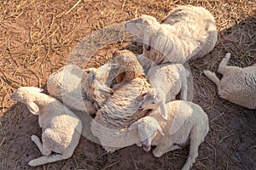
[(43, 92), (42, 88), (20, 87), (10, 95), (10, 99), (26, 104), (27, 109), (34, 115), (38, 115), (38, 105), (34, 103), (34, 95)]

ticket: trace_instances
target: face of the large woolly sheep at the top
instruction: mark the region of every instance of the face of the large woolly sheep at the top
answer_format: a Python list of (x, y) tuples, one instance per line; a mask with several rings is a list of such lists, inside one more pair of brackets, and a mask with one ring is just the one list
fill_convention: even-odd
[(160, 23), (153, 17), (143, 14), (137, 19), (130, 20), (125, 23), (125, 31), (143, 39), (144, 32), (150, 33), (154, 31)]

